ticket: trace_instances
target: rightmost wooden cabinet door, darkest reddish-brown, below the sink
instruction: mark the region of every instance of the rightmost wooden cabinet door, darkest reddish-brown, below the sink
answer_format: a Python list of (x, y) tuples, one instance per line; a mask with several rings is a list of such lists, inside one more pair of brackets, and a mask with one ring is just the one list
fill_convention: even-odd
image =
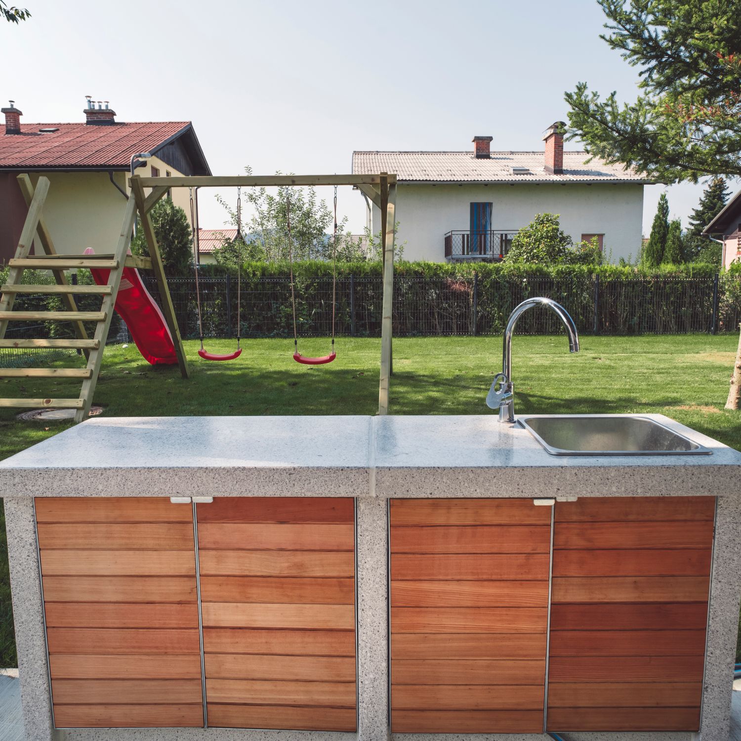
[(557, 502), (551, 731), (697, 731), (713, 497)]

